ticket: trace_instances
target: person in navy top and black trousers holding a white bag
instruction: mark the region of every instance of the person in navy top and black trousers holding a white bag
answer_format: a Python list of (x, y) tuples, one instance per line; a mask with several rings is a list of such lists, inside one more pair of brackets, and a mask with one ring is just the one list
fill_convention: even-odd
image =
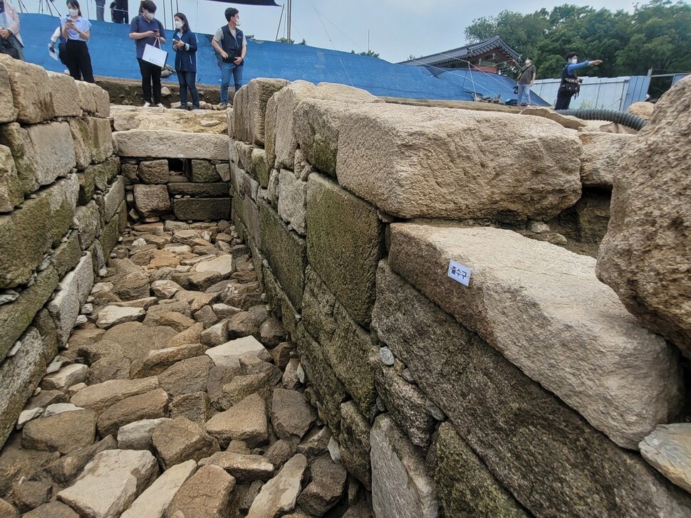
[(161, 102), (161, 70), (162, 67), (144, 60), (144, 51), (147, 45), (160, 48), (165, 43), (163, 24), (155, 18), (156, 4), (151, 0), (142, 2), (142, 14), (135, 16), (130, 23), (130, 39), (137, 46), (137, 61), (142, 73), (142, 92), (144, 93), (144, 106), (151, 106), (152, 93), (153, 104), (163, 107)]

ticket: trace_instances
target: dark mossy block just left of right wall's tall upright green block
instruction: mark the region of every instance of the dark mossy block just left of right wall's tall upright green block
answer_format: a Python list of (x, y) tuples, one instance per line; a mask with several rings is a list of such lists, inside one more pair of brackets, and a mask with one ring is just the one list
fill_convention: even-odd
[(271, 270), (293, 307), (299, 310), (305, 290), (307, 245), (304, 238), (288, 230), (269, 203), (259, 200), (258, 206), (261, 253), (269, 261)]

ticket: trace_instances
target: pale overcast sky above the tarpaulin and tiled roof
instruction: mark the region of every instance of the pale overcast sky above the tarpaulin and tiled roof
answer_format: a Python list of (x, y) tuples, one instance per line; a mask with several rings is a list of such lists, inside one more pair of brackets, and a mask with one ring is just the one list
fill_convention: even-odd
[[(9, 0), (17, 3), (19, 0)], [(24, 0), (28, 11), (38, 12), (39, 0)], [(48, 0), (43, 0), (48, 1)], [(171, 11), (171, 1), (174, 10)], [(276, 0), (283, 5), (286, 0)], [(241, 28), (260, 40), (274, 41), (286, 36), (285, 13), (281, 7), (254, 7), (209, 0), (155, 0), (156, 17), (172, 28), (172, 14), (180, 9), (189, 18), (192, 30), (214, 33), (225, 23), (223, 11), (236, 7)], [(641, 2), (645, 3), (645, 2)], [(129, 0), (130, 16), (135, 16), (139, 0)], [(596, 9), (633, 10), (632, 0), (561, 0), (547, 4), (544, 0), (498, 0), (468, 2), (464, 0), (293, 0), (291, 38), (306, 39), (310, 46), (337, 51), (372, 51), (380, 58), (396, 63), (411, 55), (427, 56), (463, 46), (464, 28), (474, 18), (493, 16), (505, 9), (531, 13), (543, 7), (561, 4), (589, 5)], [(66, 13), (64, 0), (55, 0), (61, 14)], [(106, 21), (110, 20), (106, 0)], [(83, 14), (95, 18), (94, 0), (81, 0)], [(198, 16), (197, 16), (198, 12)], [(369, 37), (369, 43), (368, 43)]]

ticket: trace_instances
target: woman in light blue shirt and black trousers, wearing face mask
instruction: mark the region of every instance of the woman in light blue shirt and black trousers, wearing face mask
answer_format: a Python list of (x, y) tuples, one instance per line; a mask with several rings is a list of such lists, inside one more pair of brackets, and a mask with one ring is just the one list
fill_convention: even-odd
[(91, 35), (91, 22), (82, 18), (77, 0), (67, 1), (68, 14), (63, 18), (62, 29), (65, 43), (65, 62), (70, 75), (77, 81), (94, 83), (91, 56), (86, 42)]

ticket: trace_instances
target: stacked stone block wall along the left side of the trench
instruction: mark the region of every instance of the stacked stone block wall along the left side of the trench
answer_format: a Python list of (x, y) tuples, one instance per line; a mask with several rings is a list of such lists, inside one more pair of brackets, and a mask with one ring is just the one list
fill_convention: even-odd
[(0, 445), (125, 227), (109, 116), (98, 86), (0, 56)]

